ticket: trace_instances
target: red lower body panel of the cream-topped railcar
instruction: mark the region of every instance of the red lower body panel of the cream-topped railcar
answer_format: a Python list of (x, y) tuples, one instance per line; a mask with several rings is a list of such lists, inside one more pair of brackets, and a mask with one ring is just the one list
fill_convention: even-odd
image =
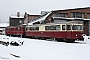
[[(83, 38), (83, 31), (27, 31), (26, 36), (62, 38), (76, 40)], [(76, 36), (77, 34), (77, 36)]]

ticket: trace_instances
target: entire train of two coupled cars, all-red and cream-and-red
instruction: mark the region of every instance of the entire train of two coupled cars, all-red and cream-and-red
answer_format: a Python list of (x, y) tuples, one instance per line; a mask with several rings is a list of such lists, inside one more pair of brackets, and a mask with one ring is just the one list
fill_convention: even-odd
[(20, 25), (6, 27), (6, 35), (52, 38), (57, 41), (83, 40), (83, 24), (77, 22), (61, 22), (36, 25)]

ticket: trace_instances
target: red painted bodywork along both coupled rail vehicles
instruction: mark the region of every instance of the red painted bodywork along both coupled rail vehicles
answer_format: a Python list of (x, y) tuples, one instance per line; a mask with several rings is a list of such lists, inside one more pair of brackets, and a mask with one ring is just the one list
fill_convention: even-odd
[[(8, 28), (8, 27), (7, 27)], [(6, 28), (6, 35), (24, 35), (33, 37), (48, 37), (48, 38), (61, 38), (61, 39), (83, 39), (83, 31), (25, 31), (25, 26), (17, 26), (13, 28)], [(20, 28), (19, 30), (17, 30)]]

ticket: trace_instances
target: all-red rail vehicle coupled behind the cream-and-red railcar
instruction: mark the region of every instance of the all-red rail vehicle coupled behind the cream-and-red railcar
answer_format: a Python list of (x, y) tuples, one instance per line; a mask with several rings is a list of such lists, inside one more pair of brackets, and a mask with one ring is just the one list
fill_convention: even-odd
[(6, 27), (6, 35), (25, 36), (25, 25)]

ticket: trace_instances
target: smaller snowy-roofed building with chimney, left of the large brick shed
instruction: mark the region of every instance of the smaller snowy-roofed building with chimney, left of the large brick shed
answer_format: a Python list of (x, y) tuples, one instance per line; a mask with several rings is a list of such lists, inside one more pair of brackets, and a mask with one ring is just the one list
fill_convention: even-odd
[(17, 15), (9, 16), (9, 26), (17, 26), (22, 24), (28, 24), (30, 21), (41, 16), (40, 14), (29, 15), (25, 12), (24, 16), (20, 15), (20, 12), (17, 12)]

